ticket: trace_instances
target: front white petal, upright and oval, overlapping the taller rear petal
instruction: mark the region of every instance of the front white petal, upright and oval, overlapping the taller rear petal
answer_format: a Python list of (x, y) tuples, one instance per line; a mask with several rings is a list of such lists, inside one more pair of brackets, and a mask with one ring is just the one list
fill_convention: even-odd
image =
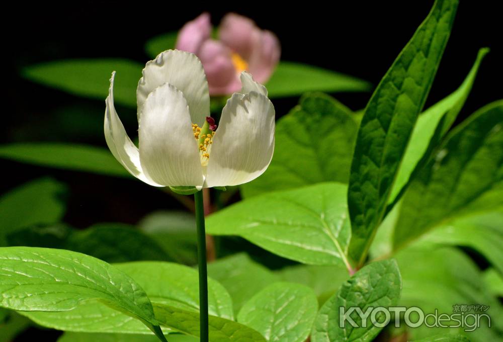
[(152, 181), (165, 186), (201, 186), (203, 170), (182, 92), (166, 83), (147, 97), (141, 115), (140, 162)]

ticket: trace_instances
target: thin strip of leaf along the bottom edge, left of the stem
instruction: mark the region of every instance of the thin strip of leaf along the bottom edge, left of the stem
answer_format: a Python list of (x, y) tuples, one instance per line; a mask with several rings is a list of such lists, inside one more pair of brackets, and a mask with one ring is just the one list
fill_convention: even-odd
[[(167, 336), (170, 342), (197, 342), (197, 338), (181, 334)], [(155, 336), (125, 333), (65, 332), (57, 342), (155, 342)]]

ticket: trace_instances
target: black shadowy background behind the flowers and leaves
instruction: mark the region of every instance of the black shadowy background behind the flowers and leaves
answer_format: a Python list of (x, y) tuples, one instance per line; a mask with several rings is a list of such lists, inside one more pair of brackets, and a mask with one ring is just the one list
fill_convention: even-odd
[[(103, 137), (104, 100), (77, 98), (32, 83), (19, 76), (25, 66), (63, 58), (121, 57), (146, 62), (144, 43), (178, 30), (203, 11), (217, 25), (237, 12), (275, 32), (282, 59), (305, 62), (369, 80), (376, 85), (394, 58), (428, 15), (433, 1), (305, 3), (234, 2), (225, 7), (206, 2), (72, 2), (33, 5), (18, 2), (4, 12), (2, 24), (7, 80), (4, 84), (2, 143), (71, 141), (106, 147)], [(427, 106), (454, 91), (471, 68), (477, 50), (488, 46), (461, 118), (503, 95), (502, 25), (498, 2), (462, 1)], [(4, 64), (5, 65), (5, 64)], [(108, 77), (105, 75), (104, 77)], [(334, 94), (354, 110), (370, 93)], [(274, 100), (284, 115), (298, 99)], [(118, 108), (129, 132), (135, 111)], [(101, 221), (135, 223), (153, 209), (181, 208), (169, 196), (139, 181), (113, 179), (0, 160), (8, 177), (2, 192), (28, 180), (51, 176), (70, 185), (65, 220), (86, 227)]]

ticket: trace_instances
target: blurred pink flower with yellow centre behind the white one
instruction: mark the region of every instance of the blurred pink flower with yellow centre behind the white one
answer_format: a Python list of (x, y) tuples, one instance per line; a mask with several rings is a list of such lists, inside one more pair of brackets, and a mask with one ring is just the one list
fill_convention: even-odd
[(176, 45), (178, 50), (195, 53), (201, 59), (210, 95), (238, 92), (243, 70), (260, 83), (271, 77), (281, 52), (274, 33), (261, 30), (246, 17), (229, 13), (218, 29), (219, 40), (210, 35), (210, 15), (203, 13), (184, 25)]

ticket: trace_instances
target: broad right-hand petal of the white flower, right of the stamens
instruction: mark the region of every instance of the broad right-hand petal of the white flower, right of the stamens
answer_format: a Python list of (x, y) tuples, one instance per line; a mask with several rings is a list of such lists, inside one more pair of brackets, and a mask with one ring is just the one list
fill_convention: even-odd
[(262, 94), (232, 95), (213, 137), (205, 187), (243, 184), (264, 173), (273, 157), (274, 115)]

